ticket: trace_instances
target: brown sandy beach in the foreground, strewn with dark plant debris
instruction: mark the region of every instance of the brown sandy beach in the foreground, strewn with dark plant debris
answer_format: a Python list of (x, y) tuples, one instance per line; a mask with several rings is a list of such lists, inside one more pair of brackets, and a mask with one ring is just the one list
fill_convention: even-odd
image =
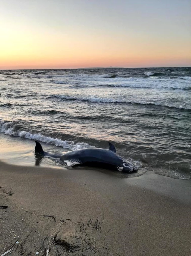
[(4, 162), (0, 177), (0, 254), (190, 255), (190, 180)]

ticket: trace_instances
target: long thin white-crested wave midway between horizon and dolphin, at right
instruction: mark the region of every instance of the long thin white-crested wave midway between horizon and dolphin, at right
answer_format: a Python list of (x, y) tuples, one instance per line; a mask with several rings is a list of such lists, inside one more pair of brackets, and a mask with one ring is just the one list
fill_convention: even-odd
[(100, 98), (100, 97), (84, 97), (84, 96), (70, 96), (70, 95), (59, 95), (59, 94), (52, 94), (49, 96), (49, 98), (58, 98), (63, 100), (79, 100), (79, 101), (89, 101), (92, 103), (126, 103), (126, 104), (140, 104), (140, 105), (152, 105), (152, 106), (163, 106), (168, 108), (174, 108), (174, 109), (183, 109), (183, 110), (191, 110), (189, 107), (183, 107), (180, 105), (172, 106), (168, 104), (158, 103), (158, 102), (145, 102), (145, 101), (134, 101), (134, 100), (120, 100), (120, 99), (113, 99), (113, 98)]

